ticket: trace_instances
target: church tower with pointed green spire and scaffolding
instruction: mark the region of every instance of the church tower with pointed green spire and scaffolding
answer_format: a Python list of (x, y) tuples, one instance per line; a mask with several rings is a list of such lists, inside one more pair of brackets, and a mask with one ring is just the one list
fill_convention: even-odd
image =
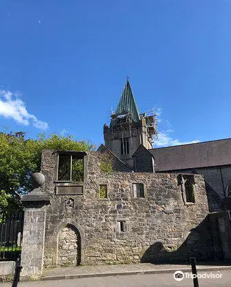
[(103, 126), (105, 146), (126, 165), (134, 166), (133, 154), (140, 145), (152, 148), (154, 135), (157, 135), (157, 120), (154, 113), (139, 113), (131, 85), (127, 79), (111, 122)]

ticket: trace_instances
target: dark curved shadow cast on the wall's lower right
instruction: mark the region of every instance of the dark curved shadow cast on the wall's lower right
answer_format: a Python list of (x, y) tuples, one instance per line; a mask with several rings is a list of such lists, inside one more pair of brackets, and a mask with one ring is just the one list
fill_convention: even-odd
[(152, 244), (142, 256), (141, 263), (189, 264), (190, 257), (195, 257), (200, 262), (215, 258), (208, 217), (199, 226), (189, 231), (180, 247), (163, 245), (161, 242)]

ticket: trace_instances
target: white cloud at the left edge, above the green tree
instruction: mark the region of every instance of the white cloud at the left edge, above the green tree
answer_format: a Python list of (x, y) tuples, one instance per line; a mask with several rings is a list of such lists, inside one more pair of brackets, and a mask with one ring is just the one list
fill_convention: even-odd
[(20, 96), (21, 94), (18, 92), (0, 90), (0, 115), (4, 118), (12, 118), (23, 126), (33, 124), (36, 128), (46, 130), (48, 128), (47, 122), (42, 122), (35, 115), (28, 113), (25, 102), (21, 100)]

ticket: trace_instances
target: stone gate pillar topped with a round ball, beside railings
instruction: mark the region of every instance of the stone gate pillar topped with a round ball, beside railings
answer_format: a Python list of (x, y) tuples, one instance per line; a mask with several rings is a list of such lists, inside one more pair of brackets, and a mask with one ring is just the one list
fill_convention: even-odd
[(44, 182), (43, 174), (33, 174), (33, 190), (22, 198), (25, 204), (21, 254), (21, 266), (23, 267), (21, 275), (23, 277), (40, 277), (42, 275), (46, 205), (50, 202), (49, 195), (43, 193), (41, 189)]

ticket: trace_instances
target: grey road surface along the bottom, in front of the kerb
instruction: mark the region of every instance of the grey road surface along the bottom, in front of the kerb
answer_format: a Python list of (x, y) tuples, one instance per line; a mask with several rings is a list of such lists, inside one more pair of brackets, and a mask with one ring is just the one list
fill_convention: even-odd
[[(230, 287), (231, 276), (230, 270), (222, 271), (198, 271), (200, 277), (198, 279), (200, 287)], [(189, 274), (189, 273), (188, 273)], [(208, 275), (215, 275), (209, 277)], [(217, 277), (218, 275), (218, 277)], [(12, 283), (1, 283), (0, 287), (11, 287)], [(160, 274), (137, 274), (137, 275), (120, 275), (120, 276), (104, 276), (104, 277), (86, 277), (75, 279), (55, 279), (46, 281), (29, 281), (18, 282), (18, 287), (193, 287), (193, 279), (184, 277), (180, 281), (174, 279), (174, 273)]]

